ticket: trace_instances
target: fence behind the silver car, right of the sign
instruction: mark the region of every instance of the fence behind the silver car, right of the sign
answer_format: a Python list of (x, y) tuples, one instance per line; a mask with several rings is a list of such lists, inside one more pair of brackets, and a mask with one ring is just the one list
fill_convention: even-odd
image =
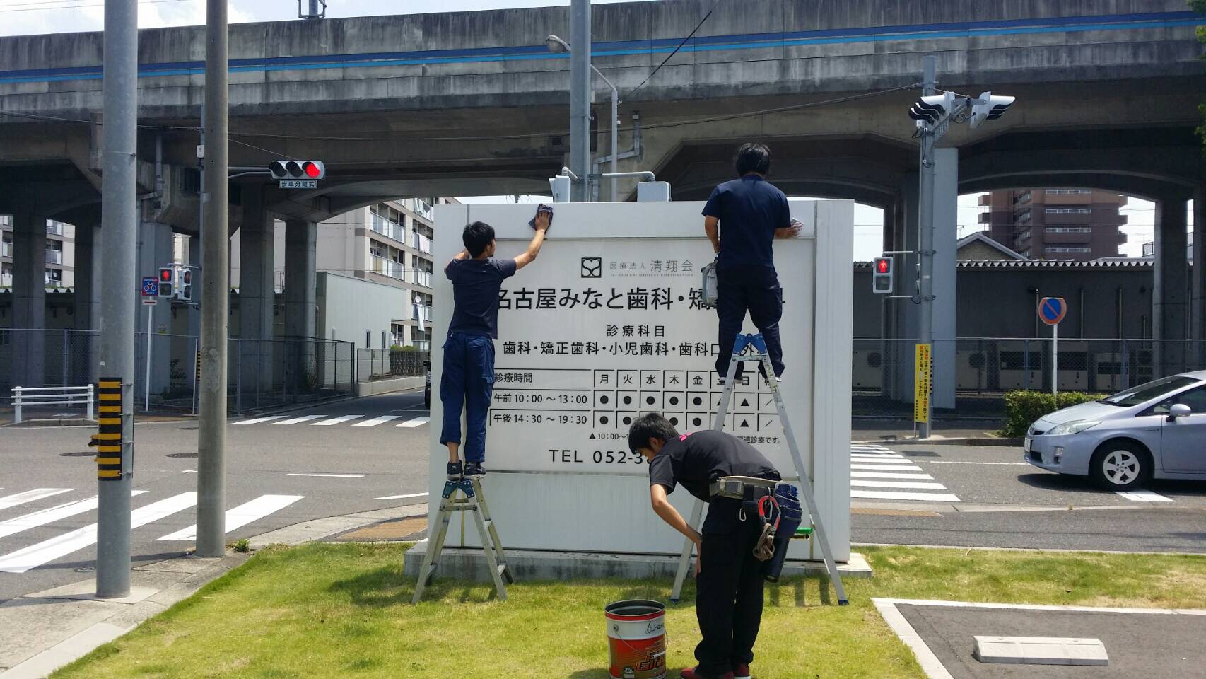
[[(912, 417), (917, 344), (913, 339), (854, 340), (856, 417)], [(1001, 417), (1005, 392), (1050, 391), (1053, 380), (1059, 391), (1113, 393), (1206, 365), (1201, 359), (1206, 343), (1192, 340), (1061, 339), (1059, 356), (1053, 357), (1049, 338), (967, 338), (936, 340), (932, 353), (936, 386), (943, 361), (953, 363), (946, 374), (955, 385), (954, 408), (948, 398), (935, 396), (938, 417)]]

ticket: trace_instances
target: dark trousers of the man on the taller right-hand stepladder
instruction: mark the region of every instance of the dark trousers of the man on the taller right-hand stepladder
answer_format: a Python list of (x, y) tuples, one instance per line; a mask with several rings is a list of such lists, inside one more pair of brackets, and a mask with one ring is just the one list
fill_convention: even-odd
[[(733, 356), (737, 333), (745, 324), (745, 312), (766, 340), (766, 353), (775, 375), (783, 374), (783, 343), (779, 340), (779, 318), (783, 317), (783, 288), (779, 276), (769, 267), (725, 267), (716, 271), (716, 316), (720, 332), (716, 341), (716, 373), (728, 375), (728, 363)], [(759, 364), (759, 371), (762, 365)], [(742, 376), (742, 364), (737, 364), (737, 379)]]

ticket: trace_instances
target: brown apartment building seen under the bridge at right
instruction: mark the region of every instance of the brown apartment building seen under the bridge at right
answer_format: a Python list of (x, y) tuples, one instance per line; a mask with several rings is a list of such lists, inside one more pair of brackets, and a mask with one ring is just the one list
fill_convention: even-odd
[(1028, 259), (1118, 257), (1126, 197), (1088, 188), (1015, 188), (979, 198), (990, 239)]

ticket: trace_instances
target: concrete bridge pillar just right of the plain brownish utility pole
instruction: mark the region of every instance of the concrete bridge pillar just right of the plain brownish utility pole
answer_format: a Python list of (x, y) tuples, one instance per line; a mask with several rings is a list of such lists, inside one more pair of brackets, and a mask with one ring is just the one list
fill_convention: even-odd
[[(239, 373), (242, 405), (273, 391), (273, 265), (275, 219), (264, 207), (259, 187), (242, 189), (239, 229)], [(247, 400), (247, 397), (252, 400)]]

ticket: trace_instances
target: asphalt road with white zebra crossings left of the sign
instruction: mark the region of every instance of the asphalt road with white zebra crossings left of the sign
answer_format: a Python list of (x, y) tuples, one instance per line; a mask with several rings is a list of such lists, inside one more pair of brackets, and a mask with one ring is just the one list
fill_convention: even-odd
[[(408, 392), (247, 425), (232, 420), (227, 525), (246, 523), (228, 531), (227, 538), (427, 502), (420, 494), (427, 492), (429, 427), (422, 400), (421, 391)], [(338, 422), (327, 423), (330, 420)], [(95, 538), (88, 527), (96, 521), (89, 504), (96, 494), (96, 474), (87, 447), (93, 432), (94, 427), (0, 428), (5, 462), (0, 469), (0, 602), (93, 573)], [(177, 556), (194, 545), (187, 531), (176, 533), (197, 519), (188, 494), (197, 490), (197, 425), (140, 425), (134, 445), (134, 488), (141, 491), (133, 499), (134, 521), (146, 520), (133, 531), (137, 566)], [(408, 494), (416, 497), (377, 499)]]

